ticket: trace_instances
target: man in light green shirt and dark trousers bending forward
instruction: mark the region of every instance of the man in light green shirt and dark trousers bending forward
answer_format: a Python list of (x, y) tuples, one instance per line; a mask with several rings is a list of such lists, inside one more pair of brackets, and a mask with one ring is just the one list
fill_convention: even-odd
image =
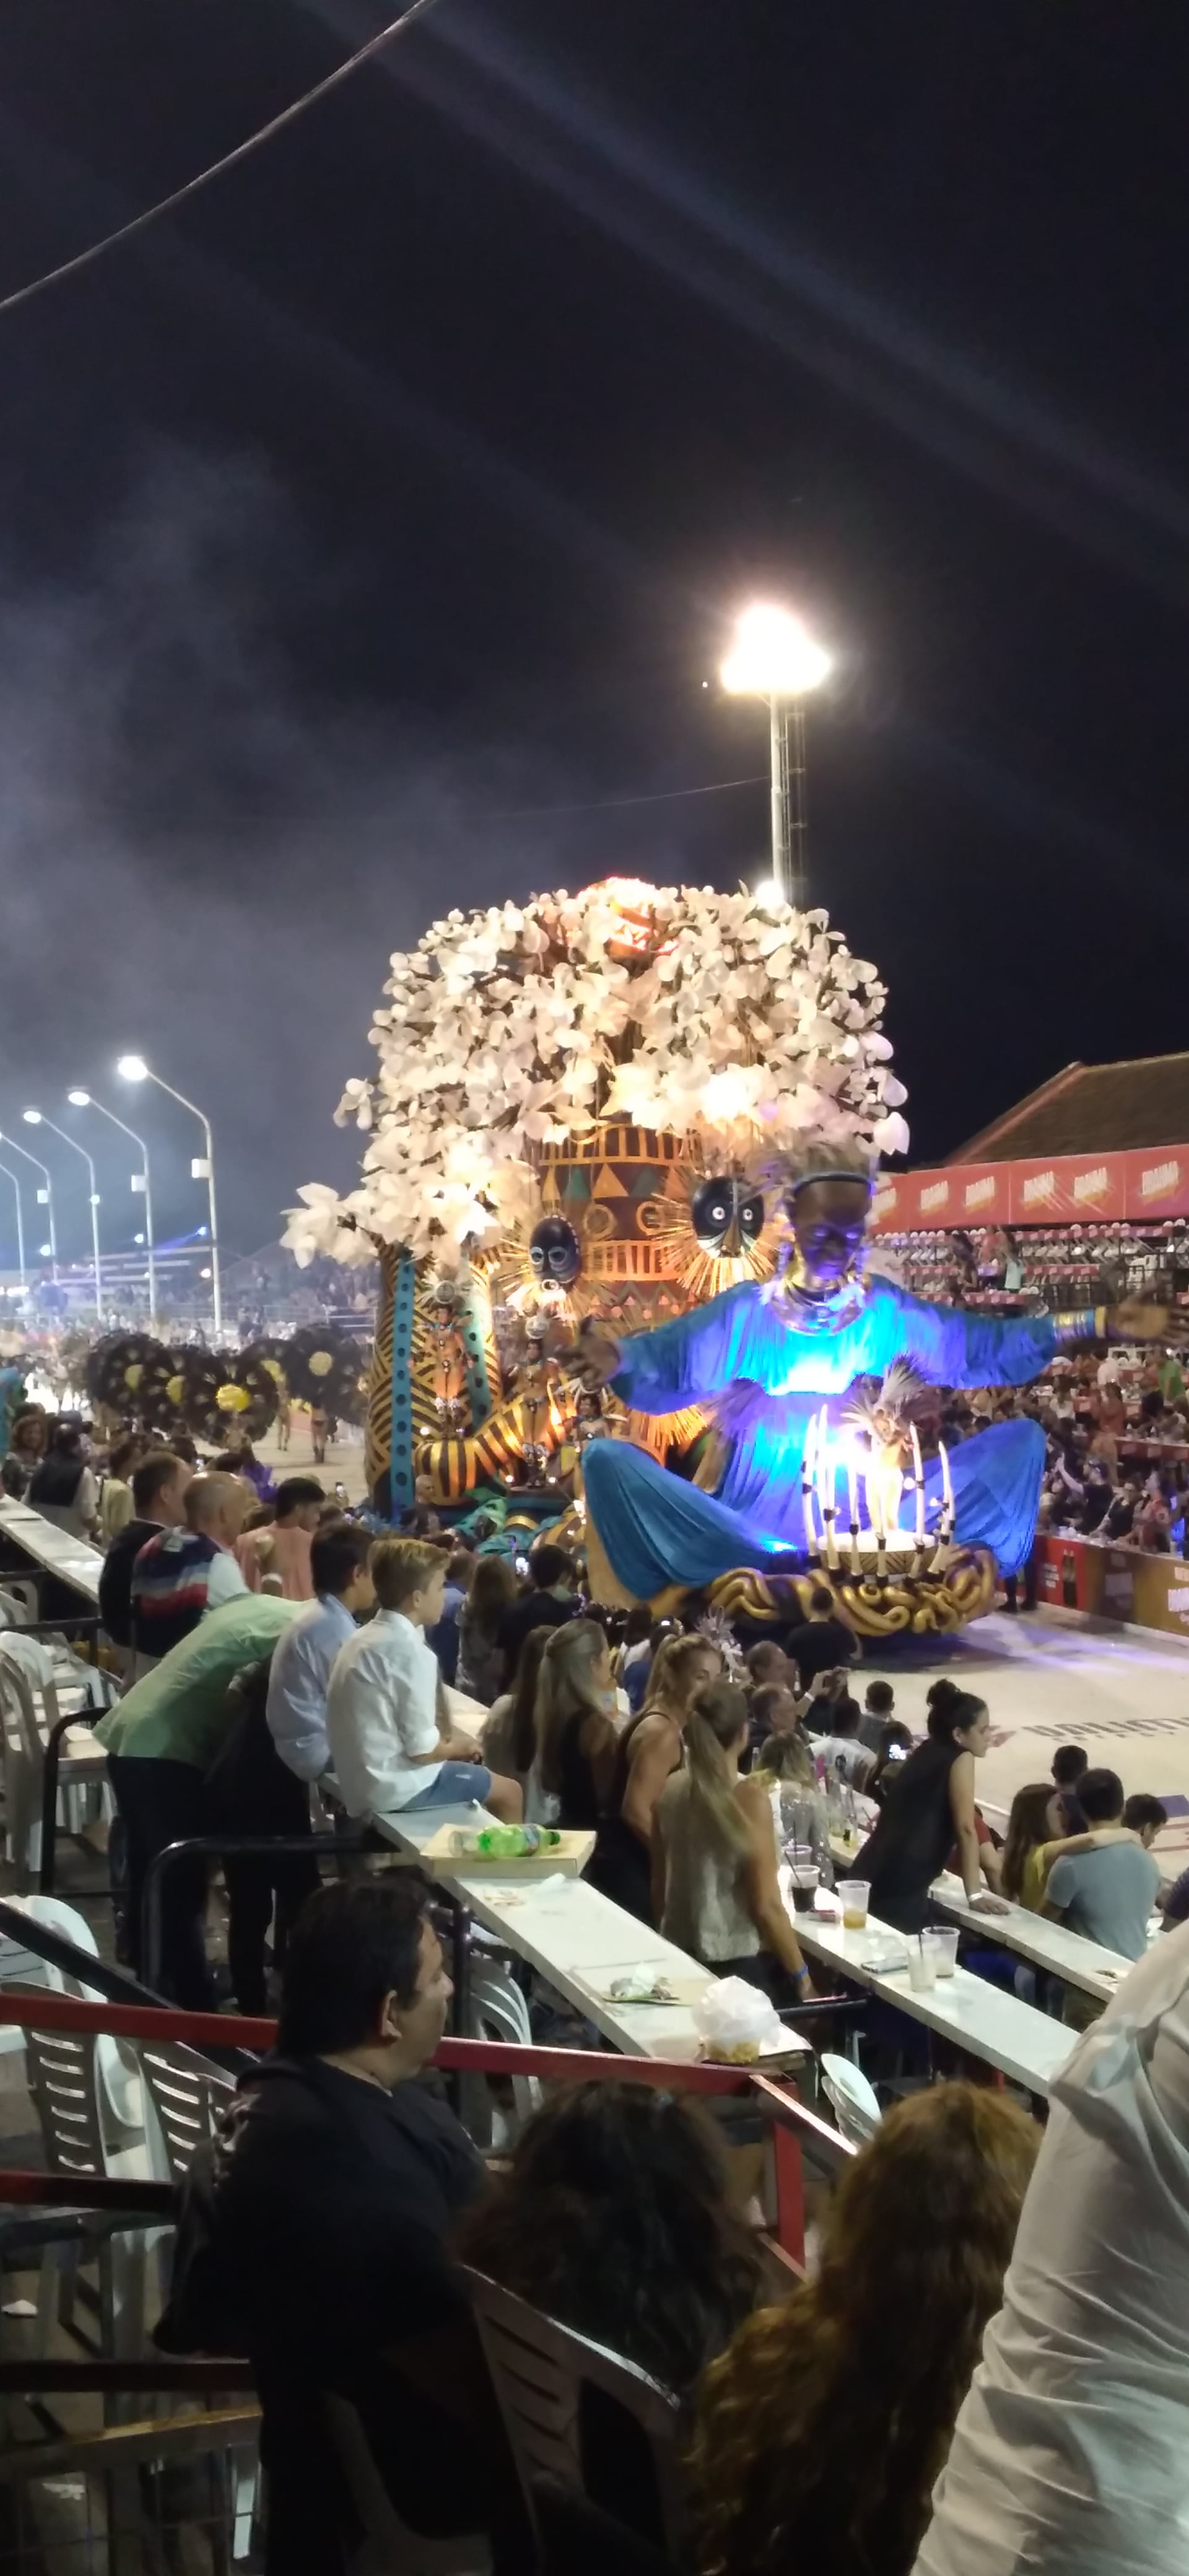
[[(301, 1602), (239, 1592), (208, 1610), (190, 1636), (95, 1726), (129, 1837), (129, 1935), (142, 1965), (144, 1873), (170, 1842), (206, 1834), (203, 1783), (232, 1723), (229, 1687), (244, 1664), (273, 1654)], [(206, 1862), (178, 1860), (162, 1888), (162, 1989), (188, 2012), (211, 2012), (203, 1940)]]

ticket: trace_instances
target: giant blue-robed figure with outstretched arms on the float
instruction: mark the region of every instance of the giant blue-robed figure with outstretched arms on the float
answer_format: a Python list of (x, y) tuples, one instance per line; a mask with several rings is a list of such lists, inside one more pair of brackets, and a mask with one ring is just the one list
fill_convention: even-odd
[[(682, 1481), (631, 1443), (605, 1440), (587, 1453), (587, 1515), (615, 1577), (638, 1600), (800, 1551), (808, 1425), (824, 1401), (836, 1419), (854, 1378), (906, 1360), (932, 1386), (1024, 1386), (1071, 1342), (1168, 1329), (1163, 1309), (1140, 1303), (1014, 1319), (932, 1306), (865, 1273), (870, 1190), (862, 1149), (808, 1149), (785, 1182), (790, 1257), (777, 1278), (744, 1280), (625, 1342), (594, 1319), (584, 1324), (571, 1350), (584, 1386), (610, 1383), (641, 1414), (700, 1404), (723, 1435), (715, 1492)], [(957, 1445), (955, 1540), (991, 1548), (1004, 1574), (1019, 1571), (1042, 1468), (1045, 1432), (1029, 1419), (999, 1422)], [(924, 1486), (932, 1525), (939, 1463)]]

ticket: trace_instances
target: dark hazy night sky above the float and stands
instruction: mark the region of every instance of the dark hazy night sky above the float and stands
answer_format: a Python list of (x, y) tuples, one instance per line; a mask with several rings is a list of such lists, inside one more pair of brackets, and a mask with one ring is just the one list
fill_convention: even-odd
[[(8, 0), (0, 289), (391, 8)], [(757, 873), (764, 786), (615, 804), (764, 770), (703, 690), (754, 592), (839, 652), (813, 884), (914, 1159), (1184, 1046), (1186, 52), (1181, 0), (440, 0), (3, 317), (0, 1123), (142, 1046), (273, 1239), (438, 909)]]

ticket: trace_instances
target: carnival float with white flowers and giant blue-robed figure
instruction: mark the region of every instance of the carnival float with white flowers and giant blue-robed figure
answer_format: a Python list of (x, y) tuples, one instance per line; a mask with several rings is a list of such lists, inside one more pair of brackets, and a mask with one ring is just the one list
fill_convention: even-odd
[[(963, 1535), (926, 1430), (937, 1370), (903, 1329), (865, 1327), (865, 1358), (826, 1301), (826, 1368), (749, 1378), (723, 1345), (667, 1391), (633, 1365), (749, 1301), (777, 1316), (806, 1177), (862, 1180), (867, 1206), (878, 1157), (908, 1144), (883, 1005), (824, 912), (623, 878), (456, 909), (391, 958), (376, 1069), (337, 1110), (365, 1139), (360, 1182), (306, 1185), (283, 1236), (299, 1262), (381, 1260), (368, 1489), (386, 1520), (489, 1504), (582, 1530), (600, 1600), (697, 1592), (764, 1620), (826, 1582), (872, 1636), (988, 1607), (993, 1553)], [(860, 1242), (842, 1303), (888, 1324), (896, 1288), (872, 1291)], [(582, 1365), (589, 1334), (615, 1368)], [(731, 1499), (757, 1445), (759, 1517)], [(649, 1528), (677, 1515), (661, 1556), (620, 1512), (641, 1471)]]

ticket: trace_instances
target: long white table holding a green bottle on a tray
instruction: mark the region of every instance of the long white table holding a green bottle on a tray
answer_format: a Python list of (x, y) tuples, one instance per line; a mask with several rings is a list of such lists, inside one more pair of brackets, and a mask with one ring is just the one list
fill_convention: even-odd
[[(376, 1816), (376, 1832), (407, 1860), (419, 1860), (425, 1844), (443, 1824), (468, 1826), (484, 1821), (476, 1806), (438, 1806), (419, 1814)], [(610, 1896), (600, 1896), (584, 1878), (502, 1878), (494, 1868), (453, 1870), (440, 1860), (427, 1862), (435, 1883), (445, 1888), (484, 1932), (494, 1932), (517, 1958), (528, 1960), (538, 1976), (582, 2012), (602, 2038), (628, 2058), (679, 2058), (697, 2056), (700, 2040), (692, 2020), (692, 2002), (710, 1984), (703, 1968), (672, 1940), (636, 1922)], [(607, 1989), (615, 1976), (631, 1968), (649, 1968), (664, 1976), (679, 1996), (677, 2004), (620, 2004)], [(808, 2040), (785, 2032), (785, 2050), (772, 2058), (808, 2053)], [(767, 2061), (762, 2058), (759, 2066)]]

